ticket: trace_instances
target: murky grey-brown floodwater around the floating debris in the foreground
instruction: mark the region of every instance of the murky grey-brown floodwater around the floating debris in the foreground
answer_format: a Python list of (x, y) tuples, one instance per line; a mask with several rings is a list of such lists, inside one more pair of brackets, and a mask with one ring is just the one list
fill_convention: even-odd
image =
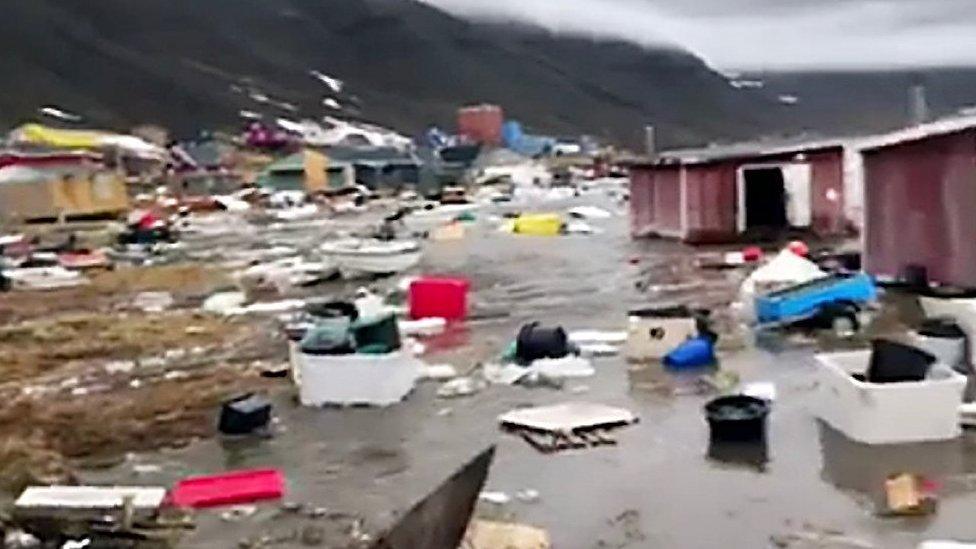
[[(628, 309), (662, 301), (721, 314), (743, 273), (698, 270), (693, 258), (702, 250), (632, 241), (626, 223), (618, 215), (591, 221), (602, 234), (538, 238), (497, 233), (482, 219), (464, 240), (429, 243), (421, 271), (470, 277), (472, 308), (480, 314), (430, 341), (424, 360), (465, 371), (497, 356), (531, 320), (567, 330), (622, 330)], [(278, 341), (275, 353), (284, 360)], [(237, 547), (261, 536), (271, 546), (300, 547), (320, 540), (296, 532), (323, 520), (339, 526), (321, 545), (343, 547), (360, 520), (365, 531), (390, 525), (491, 444), (497, 453), (486, 489), (512, 500), (482, 502), (477, 514), (545, 528), (558, 548), (897, 549), (926, 539), (976, 540), (976, 438), (897, 447), (852, 443), (811, 413), (816, 345), (776, 348), (725, 340), (720, 352), (721, 368), (743, 381), (776, 385), (764, 449), (710, 450), (702, 414), (709, 396), (683, 390), (695, 386), (693, 374), (634, 369), (611, 357), (594, 360), (595, 376), (562, 389), (492, 386), (441, 399), (436, 382), (423, 382), (384, 409), (303, 408), (281, 381), (270, 438), (205, 439), (82, 474), (98, 482), (169, 485), (188, 474), (273, 466), (287, 477), (286, 501), (329, 513), (309, 519), (282, 513), (278, 502), (230, 520), (219, 509), (201, 512), (182, 544), (198, 548)], [(514, 407), (564, 401), (621, 406), (640, 421), (618, 431), (616, 446), (555, 455), (498, 429), (497, 416)], [(934, 515), (877, 515), (883, 480), (897, 472), (922, 473), (940, 485)], [(538, 498), (515, 497), (526, 489)]]

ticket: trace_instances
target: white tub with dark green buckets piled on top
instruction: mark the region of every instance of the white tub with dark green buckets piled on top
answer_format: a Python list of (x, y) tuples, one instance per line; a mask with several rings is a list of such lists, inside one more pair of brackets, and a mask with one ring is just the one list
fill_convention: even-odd
[(298, 398), (305, 406), (389, 406), (420, 377), (421, 362), (401, 351), (385, 355), (298, 355)]

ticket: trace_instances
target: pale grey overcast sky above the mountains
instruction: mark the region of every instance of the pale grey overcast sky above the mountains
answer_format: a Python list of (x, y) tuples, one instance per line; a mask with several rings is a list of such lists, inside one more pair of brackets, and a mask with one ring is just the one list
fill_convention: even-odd
[(457, 15), (677, 44), (722, 69), (976, 66), (976, 0), (421, 0)]

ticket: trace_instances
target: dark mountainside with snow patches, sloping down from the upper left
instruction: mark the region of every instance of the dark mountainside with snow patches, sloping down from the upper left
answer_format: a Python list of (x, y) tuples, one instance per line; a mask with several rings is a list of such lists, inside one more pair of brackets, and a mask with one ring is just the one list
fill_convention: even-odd
[[(678, 51), (462, 21), (412, 0), (7, 0), (0, 124), (57, 105), (92, 124), (178, 134), (236, 128), (239, 111), (343, 111), (416, 132), (490, 101), (530, 128), (638, 144), (748, 137), (775, 101), (732, 89)], [(334, 93), (310, 75), (345, 81)], [(293, 111), (292, 108), (296, 109)]]

